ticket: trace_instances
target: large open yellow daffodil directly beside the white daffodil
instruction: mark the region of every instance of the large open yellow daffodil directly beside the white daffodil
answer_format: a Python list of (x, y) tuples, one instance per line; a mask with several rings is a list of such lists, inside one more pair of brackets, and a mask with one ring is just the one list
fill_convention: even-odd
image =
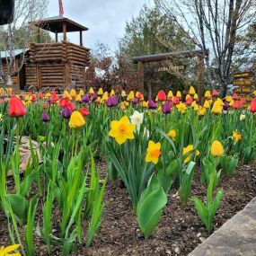
[(131, 124), (128, 117), (124, 116), (121, 119), (111, 121), (109, 136), (114, 137), (119, 145), (123, 144), (127, 139), (134, 138), (136, 126)]

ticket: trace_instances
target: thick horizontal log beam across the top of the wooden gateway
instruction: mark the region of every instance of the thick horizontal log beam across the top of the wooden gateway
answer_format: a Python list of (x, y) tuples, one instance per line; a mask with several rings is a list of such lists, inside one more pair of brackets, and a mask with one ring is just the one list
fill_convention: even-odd
[[(161, 60), (168, 60), (172, 58), (183, 58), (183, 57), (196, 57), (196, 56), (203, 56), (203, 51), (201, 49), (198, 50), (184, 50), (178, 52), (167, 52), (163, 54), (153, 54), (153, 55), (145, 55), (145, 56), (138, 56), (133, 57), (132, 60), (134, 63), (138, 62), (154, 62), (154, 61), (161, 61)], [(207, 51), (208, 54), (208, 51)]]

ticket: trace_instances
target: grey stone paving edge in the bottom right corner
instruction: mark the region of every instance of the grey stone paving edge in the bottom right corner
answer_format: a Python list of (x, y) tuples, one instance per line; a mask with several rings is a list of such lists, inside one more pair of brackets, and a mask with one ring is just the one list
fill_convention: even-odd
[(256, 256), (256, 198), (189, 256)]

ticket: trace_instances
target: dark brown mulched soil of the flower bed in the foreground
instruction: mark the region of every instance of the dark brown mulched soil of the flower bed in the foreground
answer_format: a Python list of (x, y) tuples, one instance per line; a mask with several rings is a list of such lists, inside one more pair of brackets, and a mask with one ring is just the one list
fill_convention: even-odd
[[(105, 163), (98, 163), (98, 166), (105, 172)], [(215, 230), (256, 197), (256, 163), (240, 165), (234, 177), (222, 178), (219, 188), (224, 190), (224, 199), (216, 214)], [(192, 196), (204, 199), (206, 193), (206, 186), (199, 182), (197, 171), (192, 184)], [(113, 184), (109, 181), (105, 204), (102, 226), (92, 247), (79, 247), (71, 255), (188, 255), (209, 235), (193, 205), (189, 203), (187, 207), (181, 207), (175, 190), (170, 192), (160, 224), (147, 240), (138, 229), (127, 190), (120, 186), (120, 182)], [(47, 255), (46, 247), (38, 237), (36, 240), (36, 255)], [(6, 218), (0, 211), (0, 245), (10, 243)], [(60, 255), (58, 251), (56, 248), (54, 255)]]

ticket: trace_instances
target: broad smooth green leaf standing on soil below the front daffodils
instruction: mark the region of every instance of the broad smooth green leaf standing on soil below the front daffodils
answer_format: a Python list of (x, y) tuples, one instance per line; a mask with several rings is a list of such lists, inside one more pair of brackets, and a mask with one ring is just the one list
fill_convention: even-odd
[(167, 196), (160, 182), (154, 176), (151, 177), (137, 203), (137, 222), (145, 238), (152, 234), (154, 227), (160, 221), (166, 203)]

